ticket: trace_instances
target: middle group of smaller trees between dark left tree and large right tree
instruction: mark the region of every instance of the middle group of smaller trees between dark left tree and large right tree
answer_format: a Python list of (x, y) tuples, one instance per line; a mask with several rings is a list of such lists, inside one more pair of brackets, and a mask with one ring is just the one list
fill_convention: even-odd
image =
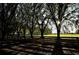
[[(31, 38), (33, 38), (33, 33), (37, 31), (40, 31), (41, 38), (44, 38), (43, 34), (45, 31), (45, 28), (47, 28), (48, 25), (48, 16), (44, 16), (47, 14), (46, 9), (44, 9), (44, 4), (19, 4), (18, 8), (16, 10), (16, 19), (20, 23), (22, 23), (21, 26), (23, 26), (23, 33), (25, 36), (25, 31), (28, 29)], [(49, 33), (51, 33), (51, 30), (49, 30)], [(37, 33), (37, 32), (36, 32)]]

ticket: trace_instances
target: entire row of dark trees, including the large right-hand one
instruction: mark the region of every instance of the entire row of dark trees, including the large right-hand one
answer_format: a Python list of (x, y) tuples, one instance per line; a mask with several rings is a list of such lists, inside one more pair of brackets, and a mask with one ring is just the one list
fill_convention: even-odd
[[(0, 4), (1, 39), (4, 40), (5, 36), (8, 37), (11, 33), (17, 33), (19, 38), (21, 32), (25, 38), (28, 31), (30, 38), (33, 38), (33, 34), (36, 31), (40, 32), (41, 38), (44, 38), (44, 32), (48, 30), (51, 33), (48, 24), (52, 23), (51, 26), (54, 24), (57, 30), (53, 53), (63, 54), (60, 32), (63, 28), (65, 28), (65, 30), (63, 29), (65, 33), (69, 32), (70, 30), (67, 26), (70, 25), (72, 27), (73, 24), (79, 30), (78, 6), (78, 4), (67, 3)], [(66, 21), (68, 25), (63, 25)]]

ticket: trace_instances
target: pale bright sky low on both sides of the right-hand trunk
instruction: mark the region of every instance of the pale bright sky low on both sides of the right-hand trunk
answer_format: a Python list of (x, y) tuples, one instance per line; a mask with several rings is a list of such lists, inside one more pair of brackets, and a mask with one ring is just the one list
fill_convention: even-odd
[[(64, 33), (64, 32), (75, 33), (76, 32), (75, 25), (74, 24), (69, 25), (67, 22), (68, 21), (64, 21), (64, 23), (61, 25), (61, 33)], [(66, 26), (67, 29), (65, 29), (64, 26)], [(52, 24), (52, 26), (49, 25), (48, 27), (51, 29), (52, 33), (57, 33), (56, 26), (54, 24)]]

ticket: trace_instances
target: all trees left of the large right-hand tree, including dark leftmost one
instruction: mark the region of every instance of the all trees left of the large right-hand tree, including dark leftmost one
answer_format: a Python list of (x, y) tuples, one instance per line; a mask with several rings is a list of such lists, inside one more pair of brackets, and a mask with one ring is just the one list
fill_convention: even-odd
[[(43, 21), (41, 20), (42, 23), (40, 23), (41, 21), (37, 20), (36, 18), (38, 16), (36, 16), (35, 13), (39, 13), (39, 16), (42, 15), (40, 18), (44, 18), (43, 14), (45, 13), (45, 11), (43, 12), (43, 14), (40, 13), (43, 7), (43, 4), (1, 4), (0, 27), (2, 32), (2, 39), (4, 39), (5, 36), (8, 36), (11, 33), (15, 34), (15, 32), (17, 33), (18, 37), (20, 36), (20, 34), (23, 34), (25, 37), (26, 32), (29, 32), (31, 38), (33, 38), (33, 33), (41, 34), (41, 37), (43, 38), (45, 28), (47, 28), (46, 30), (48, 30), (47, 32), (45, 32), (46, 34), (51, 33), (51, 30), (48, 27), (46, 27), (48, 24), (48, 22), (45, 23), (46, 19), (44, 19)], [(35, 8), (37, 11), (32, 10)]]

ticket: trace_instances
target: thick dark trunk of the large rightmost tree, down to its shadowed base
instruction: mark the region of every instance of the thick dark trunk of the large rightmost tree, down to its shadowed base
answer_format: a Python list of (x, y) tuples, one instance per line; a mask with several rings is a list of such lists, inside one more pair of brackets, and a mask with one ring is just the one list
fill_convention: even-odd
[(54, 55), (62, 55), (63, 50), (62, 50), (62, 45), (61, 45), (61, 38), (60, 38), (60, 26), (57, 27), (57, 39), (54, 45), (54, 50), (53, 50)]

